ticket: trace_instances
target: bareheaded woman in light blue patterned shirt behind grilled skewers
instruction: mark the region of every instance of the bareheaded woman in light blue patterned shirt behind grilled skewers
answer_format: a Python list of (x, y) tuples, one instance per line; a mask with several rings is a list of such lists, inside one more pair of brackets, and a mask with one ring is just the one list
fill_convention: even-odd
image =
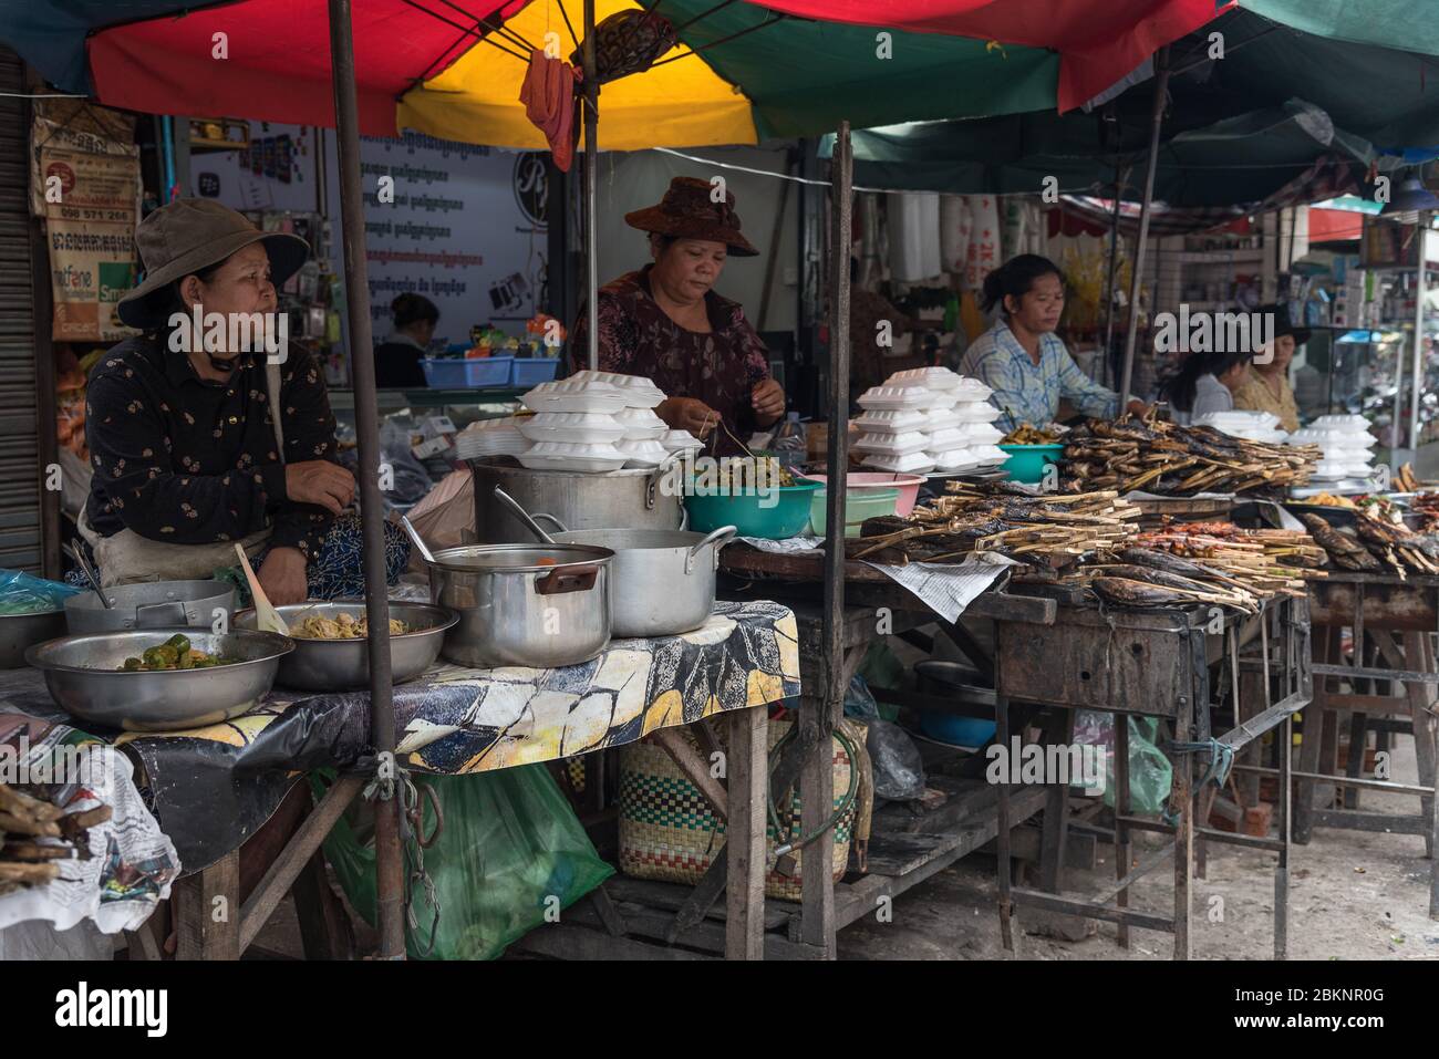
[[(1048, 258), (1022, 253), (984, 278), (984, 311), (1000, 318), (964, 353), (960, 371), (974, 376), (994, 393), (990, 401), (1003, 414), (999, 426), (1048, 426), (1059, 413), (1061, 399), (1097, 419), (1120, 412), (1120, 396), (1085, 376), (1055, 334), (1065, 311), (1065, 278)], [(1144, 414), (1143, 401), (1128, 412)]]

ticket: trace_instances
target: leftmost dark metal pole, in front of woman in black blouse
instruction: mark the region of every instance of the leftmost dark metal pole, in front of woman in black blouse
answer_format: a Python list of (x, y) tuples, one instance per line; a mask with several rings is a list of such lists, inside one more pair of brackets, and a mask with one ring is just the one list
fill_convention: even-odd
[[(360, 524), (366, 613), (370, 619), (370, 742), (383, 761), (394, 755), (390, 682), (390, 601), (384, 577), (384, 502), (380, 496), (380, 424), (374, 399), (370, 282), (364, 259), (364, 190), (360, 181), (360, 109), (355, 102), (350, 0), (330, 0), (330, 55), (335, 88), (340, 217), (345, 245), (345, 304), (354, 371), (355, 436), (360, 442)], [(381, 788), (374, 813), (376, 906), (381, 960), (404, 958), (404, 886), (400, 866), (400, 803)]]

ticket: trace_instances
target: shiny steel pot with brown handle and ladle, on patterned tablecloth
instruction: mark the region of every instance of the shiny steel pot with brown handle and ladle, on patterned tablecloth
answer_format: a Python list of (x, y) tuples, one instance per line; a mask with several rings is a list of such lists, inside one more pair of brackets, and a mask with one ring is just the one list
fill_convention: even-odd
[(435, 553), (430, 601), (459, 614), (440, 653), (466, 666), (589, 662), (610, 642), (613, 561), (613, 551), (578, 544)]

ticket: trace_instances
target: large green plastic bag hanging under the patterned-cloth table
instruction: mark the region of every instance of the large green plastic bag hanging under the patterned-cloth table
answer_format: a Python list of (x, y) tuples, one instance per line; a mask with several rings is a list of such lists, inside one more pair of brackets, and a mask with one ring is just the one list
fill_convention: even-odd
[[(317, 797), (321, 778), (309, 777)], [(574, 810), (544, 765), (475, 776), (425, 776), (440, 800), (445, 827), (425, 850), (440, 918), (426, 953), (435, 908), (414, 886), (417, 927), (406, 932), (413, 960), (494, 960), (532, 928), (554, 921), (614, 873), (600, 859)], [(429, 801), (425, 835), (435, 827)], [(325, 856), (354, 909), (374, 925), (374, 812), (357, 800), (325, 839)]]

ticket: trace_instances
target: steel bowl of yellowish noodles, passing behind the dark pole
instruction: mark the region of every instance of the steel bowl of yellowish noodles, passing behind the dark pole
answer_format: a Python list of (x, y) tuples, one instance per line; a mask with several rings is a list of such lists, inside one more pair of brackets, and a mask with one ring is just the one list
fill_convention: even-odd
[[(285, 619), (295, 640), (295, 650), (279, 663), (275, 679), (283, 688), (301, 691), (351, 691), (370, 685), (370, 645), (366, 640), (312, 640), (294, 636), (307, 617), (330, 617), (351, 614), (364, 616), (363, 600), (335, 600), (331, 603), (294, 603), (276, 607)], [(404, 622), (413, 632), (390, 637), (390, 679), (393, 683), (413, 681), (439, 658), (445, 633), (459, 622), (449, 607), (430, 603), (390, 601), (390, 617)], [(245, 610), (235, 616), (240, 629), (255, 627), (255, 612)]]

